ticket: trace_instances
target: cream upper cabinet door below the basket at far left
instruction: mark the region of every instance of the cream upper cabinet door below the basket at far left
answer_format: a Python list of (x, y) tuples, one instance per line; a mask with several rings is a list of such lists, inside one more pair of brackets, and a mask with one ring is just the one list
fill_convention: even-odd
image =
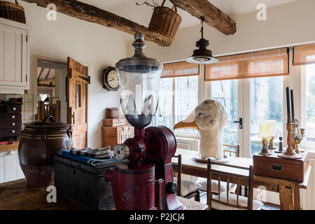
[(27, 30), (0, 24), (0, 85), (27, 85)]

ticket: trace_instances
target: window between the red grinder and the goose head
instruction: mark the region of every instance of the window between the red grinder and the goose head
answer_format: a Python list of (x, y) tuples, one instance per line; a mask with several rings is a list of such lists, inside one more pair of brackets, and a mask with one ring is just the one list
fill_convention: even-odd
[[(175, 99), (175, 100), (174, 100)], [(187, 118), (198, 105), (198, 76), (160, 79), (160, 100), (154, 125), (173, 130), (176, 123)], [(176, 130), (179, 135), (197, 135), (196, 130)]]

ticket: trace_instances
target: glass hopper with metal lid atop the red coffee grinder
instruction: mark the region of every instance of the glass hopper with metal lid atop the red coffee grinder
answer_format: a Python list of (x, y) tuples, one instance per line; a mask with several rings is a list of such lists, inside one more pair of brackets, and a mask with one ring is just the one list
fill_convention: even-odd
[(162, 63), (144, 55), (144, 35), (134, 35), (133, 57), (116, 63), (120, 82), (120, 104), (128, 123), (144, 128), (151, 123), (158, 108)]

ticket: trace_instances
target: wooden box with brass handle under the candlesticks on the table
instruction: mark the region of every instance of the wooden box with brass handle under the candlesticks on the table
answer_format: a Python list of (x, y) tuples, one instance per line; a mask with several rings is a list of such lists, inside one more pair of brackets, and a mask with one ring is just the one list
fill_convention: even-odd
[(299, 160), (279, 158), (276, 153), (262, 156), (258, 153), (253, 155), (253, 170), (255, 175), (269, 176), (288, 181), (304, 181), (304, 173), (309, 166), (308, 153), (303, 153)]

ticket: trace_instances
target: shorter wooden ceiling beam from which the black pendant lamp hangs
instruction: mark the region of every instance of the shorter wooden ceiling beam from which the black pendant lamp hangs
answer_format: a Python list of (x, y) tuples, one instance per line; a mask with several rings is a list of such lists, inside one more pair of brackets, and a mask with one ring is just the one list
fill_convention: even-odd
[(211, 27), (215, 27), (225, 35), (235, 34), (236, 23), (229, 15), (216, 8), (208, 0), (171, 0), (175, 6), (186, 10), (199, 20), (203, 17), (204, 22)]

